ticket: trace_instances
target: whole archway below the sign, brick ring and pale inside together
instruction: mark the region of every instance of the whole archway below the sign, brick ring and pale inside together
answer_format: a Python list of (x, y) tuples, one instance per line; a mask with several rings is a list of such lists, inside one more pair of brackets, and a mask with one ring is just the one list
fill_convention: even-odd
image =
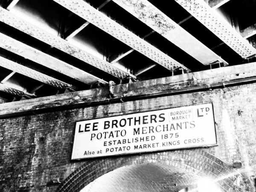
[(201, 179), (216, 181), (220, 192), (239, 192), (248, 180), (203, 149), (189, 149), (88, 160), (57, 191), (178, 192)]

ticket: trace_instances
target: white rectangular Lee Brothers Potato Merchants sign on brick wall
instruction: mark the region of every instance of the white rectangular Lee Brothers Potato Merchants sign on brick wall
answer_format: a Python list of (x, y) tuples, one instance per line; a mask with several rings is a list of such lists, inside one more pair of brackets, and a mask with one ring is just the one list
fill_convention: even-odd
[(217, 145), (212, 104), (76, 122), (72, 159)]

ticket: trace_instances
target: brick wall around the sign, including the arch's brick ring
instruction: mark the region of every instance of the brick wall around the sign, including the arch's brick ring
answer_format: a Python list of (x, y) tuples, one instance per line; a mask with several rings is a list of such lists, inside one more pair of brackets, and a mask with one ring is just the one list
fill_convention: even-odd
[[(130, 92), (124, 89), (127, 94), (137, 90), (136, 84), (126, 86), (130, 86)], [(145, 81), (144, 86), (150, 89), (156, 84)], [(121, 94), (120, 87), (116, 88), (116, 94)], [(159, 91), (161, 89), (166, 87), (160, 87)], [(35, 111), (32, 115), (0, 119), (0, 191), (46, 192), (57, 188), (60, 191), (79, 191), (104, 173), (140, 163), (169, 163), (193, 170), (199, 176), (217, 178), (232, 173), (233, 161), (238, 160), (247, 170), (242, 172), (241, 181), (232, 176), (221, 186), (226, 191), (236, 186), (233, 191), (254, 192), (254, 181), (250, 180), (250, 176), (256, 174), (255, 90), (256, 84), (252, 83), (87, 108), (40, 114)], [(94, 96), (99, 98), (101, 93), (98, 94)], [(218, 138), (216, 147), (152, 153), (154, 157), (131, 155), (125, 158), (70, 160), (76, 121), (204, 103), (213, 103)], [(166, 159), (163, 160), (161, 155)], [(56, 178), (61, 181), (59, 185), (52, 183)], [(87, 183), (84, 183), (85, 180)], [(77, 183), (79, 188), (72, 188), (73, 183)]]

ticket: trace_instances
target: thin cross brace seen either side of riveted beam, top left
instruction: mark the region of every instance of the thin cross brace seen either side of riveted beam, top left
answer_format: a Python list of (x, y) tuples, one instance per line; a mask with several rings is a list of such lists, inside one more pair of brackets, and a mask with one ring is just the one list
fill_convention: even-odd
[[(108, 2), (110, 2), (110, 1), (111, 0), (106, 0), (104, 3), (102, 3), (98, 7), (98, 10), (102, 9), (102, 7), (107, 5)], [(90, 24), (90, 22), (86, 21), (86, 22), (82, 22), (82, 23), (79, 23), (77, 25), (70, 27), (70, 29), (68, 29), (67, 32), (65, 32), (64, 39), (69, 40), (69, 39), (73, 38), (76, 34), (78, 34), (81, 30), (83, 30), (89, 24)]]

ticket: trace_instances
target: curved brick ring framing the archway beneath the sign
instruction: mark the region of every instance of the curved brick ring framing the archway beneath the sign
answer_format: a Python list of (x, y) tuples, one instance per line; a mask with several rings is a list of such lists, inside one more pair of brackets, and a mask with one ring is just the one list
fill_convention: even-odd
[[(155, 152), (123, 157), (109, 157), (96, 160), (86, 160), (76, 171), (70, 174), (60, 185), (57, 192), (79, 192), (84, 186), (96, 178), (123, 166), (142, 163), (161, 163), (189, 170), (200, 177), (216, 179), (236, 172), (233, 167), (207, 153), (202, 149)], [(247, 176), (243, 176), (247, 183)], [(221, 180), (224, 191), (242, 191), (243, 183), (237, 185), (236, 175)]]

